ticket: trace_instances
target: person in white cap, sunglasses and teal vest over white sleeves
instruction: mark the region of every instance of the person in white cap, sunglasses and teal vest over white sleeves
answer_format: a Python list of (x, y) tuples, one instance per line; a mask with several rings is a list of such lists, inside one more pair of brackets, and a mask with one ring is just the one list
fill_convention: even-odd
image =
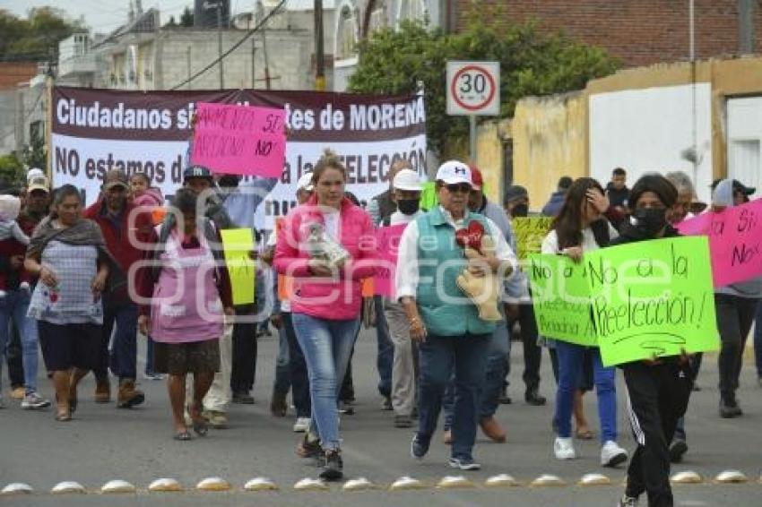
[[(457, 285), (464, 270), (474, 277), (494, 274), (505, 279), (515, 271), (515, 255), (495, 223), (468, 209), (471, 169), (451, 160), (437, 170), (439, 205), (405, 228), (395, 275), (396, 297), (404, 307), (411, 339), (419, 343), (420, 390), (418, 432), (411, 455), (422, 459), (437, 428), (446, 385), (455, 372), (453, 445), (449, 465), (476, 470), (473, 444), (479, 424), (480, 392), (495, 322), (483, 320), (477, 306)], [(466, 259), (455, 241), (468, 228), (490, 236), (494, 253)]]

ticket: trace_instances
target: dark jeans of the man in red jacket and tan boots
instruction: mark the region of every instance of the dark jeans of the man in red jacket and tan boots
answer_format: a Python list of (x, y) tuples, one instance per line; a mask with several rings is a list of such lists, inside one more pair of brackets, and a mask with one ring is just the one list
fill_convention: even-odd
[[(101, 328), (100, 360), (93, 370), (96, 378), (108, 378), (107, 365), (111, 373), (119, 380), (135, 380), (137, 371), (137, 305), (126, 302), (103, 301), (103, 327)], [(112, 350), (109, 354), (108, 343), (111, 331), (114, 332)]]

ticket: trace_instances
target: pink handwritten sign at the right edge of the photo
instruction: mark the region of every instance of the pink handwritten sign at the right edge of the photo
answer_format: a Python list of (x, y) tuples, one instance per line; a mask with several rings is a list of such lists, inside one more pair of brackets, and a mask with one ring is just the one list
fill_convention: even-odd
[(715, 288), (762, 275), (762, 199), (710, 211), (676, 227), (688, 236), (709, 236)]

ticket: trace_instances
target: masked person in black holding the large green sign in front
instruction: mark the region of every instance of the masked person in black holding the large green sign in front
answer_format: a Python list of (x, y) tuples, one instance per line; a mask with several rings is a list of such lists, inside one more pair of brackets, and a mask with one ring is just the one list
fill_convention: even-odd
[[(645, 175), (632, 187), (631, 219), (610, 246), (680, 236), (667, 222), (678, 191), (665, 177)], [(674, 504), (670, 487), (669, 443), (688, 408), (693, 387), (688, 356), (659, 357), (620, 365), (628, 390), (628, 412), (637, 448), (630, 460), (620, 507), (636, 505), (644, 492), (650, 507)]]

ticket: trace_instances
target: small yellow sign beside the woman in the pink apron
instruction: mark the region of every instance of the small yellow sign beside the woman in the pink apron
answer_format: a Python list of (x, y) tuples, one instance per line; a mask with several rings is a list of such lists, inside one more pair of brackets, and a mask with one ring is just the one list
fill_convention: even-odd
[(223, 229), (220, 235), (233, 289), (233, 305), (250, 305), (254, 303), (255, 290), (255, 262), (248, 256), (254, 250), (251, 229)]

